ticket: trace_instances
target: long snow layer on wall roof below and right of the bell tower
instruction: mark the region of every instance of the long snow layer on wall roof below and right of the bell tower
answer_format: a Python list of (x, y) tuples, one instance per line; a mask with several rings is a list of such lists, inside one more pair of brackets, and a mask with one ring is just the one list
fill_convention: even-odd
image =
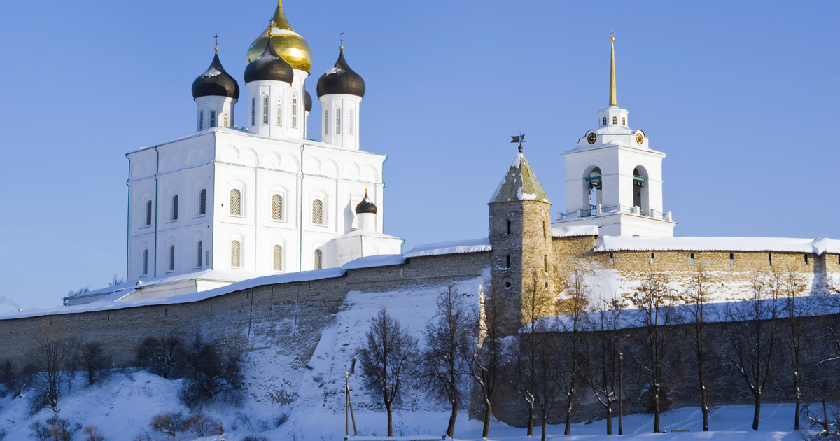
[(768, 251), (777, 253), (838, 253), (840, 240), (727, 237), (601, 236), (596, 252), (609, 251)]

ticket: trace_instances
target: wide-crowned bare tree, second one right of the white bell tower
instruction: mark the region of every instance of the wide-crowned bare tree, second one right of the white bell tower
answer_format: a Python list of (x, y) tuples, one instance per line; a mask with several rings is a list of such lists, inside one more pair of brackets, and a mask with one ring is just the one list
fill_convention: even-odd
[(761, 399), (770, 378), (770, 367), (782, 312), (778, 279), (755, 270), (750, 277), (748, 299), (727, 307), (727, 327), (732, 347), (727, 359), (741, 373), (755, 401), (753, 430), (759, 430)]

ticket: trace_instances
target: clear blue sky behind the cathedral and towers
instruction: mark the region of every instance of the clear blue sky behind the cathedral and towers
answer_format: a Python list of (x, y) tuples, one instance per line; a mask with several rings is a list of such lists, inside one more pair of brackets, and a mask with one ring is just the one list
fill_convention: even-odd
[[(270, 0), (9, 2), (0, 15), (0, 312), (124, 276), (125, 152), (191, 134), (213, 58), (242, 75)], [(526, 155), (564, 211), (561, 152), (618, 104), (664, 160), (680, 236), (840, 239), (837, 2), (287, 0), (314, 54), (365, 78), (364, 150), (388, 155), (386, 233), (486, 236), (486, 202)], [(319, 113), (316, 100), (313, 115)], [(245, 118), (244, 112), (237, 113)], [(244, 125), (244, 120), (236, 123)], [(310, 134), (320, 118), (309, 118)]]

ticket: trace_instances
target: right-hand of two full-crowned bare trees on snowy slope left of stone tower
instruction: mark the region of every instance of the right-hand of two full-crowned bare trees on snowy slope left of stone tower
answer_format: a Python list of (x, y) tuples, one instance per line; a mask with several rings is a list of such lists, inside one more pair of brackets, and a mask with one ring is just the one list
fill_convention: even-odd
[(439, 291), (437, 312), (426, 326), (426, 349), (420, 363), (419, 378), (428, 396), (448, 402), (449, 426), (446, 433), (454, 438), (455, 419), (464, 395), (466, 365), (461, 348), (468, 345), (467, 310), (454, 284)]

